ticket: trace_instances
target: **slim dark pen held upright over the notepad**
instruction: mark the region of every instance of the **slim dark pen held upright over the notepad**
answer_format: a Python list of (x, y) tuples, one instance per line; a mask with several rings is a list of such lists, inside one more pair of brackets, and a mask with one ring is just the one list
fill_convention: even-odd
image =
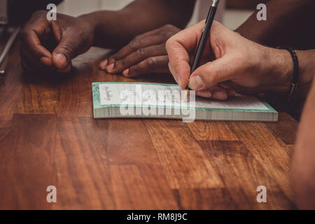
[[(200, 66), (200, 61), (202, 59), (202, 55), (204, 53), (204, 47), (206, 46), (209, 32), (211, 29), (211, 25), (214, 22), (214, 17), (216, 15), (216, 9), (218, 8), (219, 0), (213, 0), (212, 6), (209, 9), (209, 13), (207, 16), (206, 23), (204, 25), (204, 29), (202, 30), (202, 36), (200, 36), (200, 41), (198, 43), (197, 52), (193, 61), (193, 66), (190, 70), (190, 75)], [(189, 86), (187, 86), (185, 91), (184, 101), (186, 101), (189, 91), (191, 90)]]

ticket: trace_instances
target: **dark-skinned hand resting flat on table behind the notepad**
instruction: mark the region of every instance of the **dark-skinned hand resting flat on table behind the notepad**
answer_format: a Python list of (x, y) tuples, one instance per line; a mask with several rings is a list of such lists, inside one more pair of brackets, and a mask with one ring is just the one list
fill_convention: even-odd
[(165, 49), (168, 38), (180, 31), (173, 25), (136, 36), (128, 45), (99, 64), (108, 73), (136, 77), (149, 73), (169, 73), (169, 57)]

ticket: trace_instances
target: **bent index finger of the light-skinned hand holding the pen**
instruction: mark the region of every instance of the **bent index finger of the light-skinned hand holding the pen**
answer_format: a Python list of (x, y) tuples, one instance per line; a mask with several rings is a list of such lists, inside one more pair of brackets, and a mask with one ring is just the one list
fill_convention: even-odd
[(169, 55), (169, 70), (182, 88), (188, 85), (190, 54), (197, 48), (203, 27), (204, 21), (180, 31), (169, 38), (166, 43), (167, 54)]

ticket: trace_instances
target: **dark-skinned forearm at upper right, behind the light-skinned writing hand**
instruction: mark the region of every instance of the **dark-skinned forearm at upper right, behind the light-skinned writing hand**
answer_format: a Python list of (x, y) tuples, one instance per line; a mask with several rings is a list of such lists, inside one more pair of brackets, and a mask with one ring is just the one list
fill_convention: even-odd
[(271, 0), (267, 3), (267, 21), (258, 21), (255, 12), (237, 31), (264, 45), (314, 48), (314, 7), (314, 0)]

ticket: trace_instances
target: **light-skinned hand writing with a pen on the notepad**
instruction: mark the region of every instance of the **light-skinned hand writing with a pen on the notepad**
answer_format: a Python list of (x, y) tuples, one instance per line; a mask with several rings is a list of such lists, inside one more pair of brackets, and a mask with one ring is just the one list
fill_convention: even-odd
[(235, 95), (288, 92), (293, 63), (286, 50), (249, 41), (214, 21), (201, 66), (190, 76), (204, 21), (180, 31), (166, 44), (169, 69), (182, 88), (201, 97), (225, 100)]

